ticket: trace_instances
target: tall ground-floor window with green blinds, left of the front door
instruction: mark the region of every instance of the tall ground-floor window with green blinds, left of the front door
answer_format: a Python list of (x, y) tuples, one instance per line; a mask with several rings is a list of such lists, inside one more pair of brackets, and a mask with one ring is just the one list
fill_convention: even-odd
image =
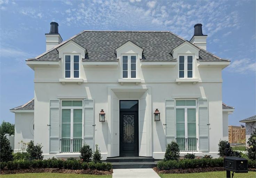
[(79, 152), (82, 145), (82, 101), (63, 100), (61, 112), (62, 152)]

